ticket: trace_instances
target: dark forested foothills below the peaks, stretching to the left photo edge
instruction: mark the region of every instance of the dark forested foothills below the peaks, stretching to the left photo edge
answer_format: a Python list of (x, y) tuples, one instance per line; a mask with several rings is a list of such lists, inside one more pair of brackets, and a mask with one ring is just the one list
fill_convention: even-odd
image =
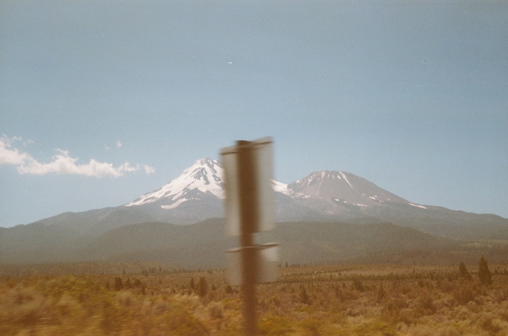
[[(188, 226), (139, 223), (81, 241), (78, 236), (62, 239), (56, 232), (41, 225), (19, 227), (3, 237), (0, 263), (153, 260), (182, 268), (216, 268), (226, 267), (225, 251), (238, 246), (237, 237), (225, 237), (223, 219)], [(450, 249), (456, 245), (391, 223), (285, 222), (256, 236), (259, 242), (279, 242), (281, 262), (290, 263), (340, 262), (360, 257), (367, 260), (371, 255)]]

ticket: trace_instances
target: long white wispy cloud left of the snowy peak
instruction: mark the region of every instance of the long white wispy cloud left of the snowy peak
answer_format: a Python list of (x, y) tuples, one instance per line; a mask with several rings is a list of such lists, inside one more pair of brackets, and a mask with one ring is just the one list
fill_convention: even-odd
[[(5, 135), (0, 138), (0, 165), (14, 165), (20, 174), (46, 175), (55, 173), (103, 178), (119, 177), (125, 175), (125, 173), (140, 170), (139, 165), (131, 166), (129, 162), (125, 162), (117, 167), (114, 167), (112, 163), (99, 162), (94, 159), (91, 159), (86, 164), (78, 164), (78, 158), (71, 157), (69, 151), (63, 150), (56, 150), (58, 154), (52, 157), (52, 161), (42, 163), (29, 154), (14, 148), (14, 139), (10, 139)], [(118, 144), (120, 144), (119, 141)], [(155, 171), (153, 167), (147, 165), (144, 165), (143, 168), (147, 174)]]

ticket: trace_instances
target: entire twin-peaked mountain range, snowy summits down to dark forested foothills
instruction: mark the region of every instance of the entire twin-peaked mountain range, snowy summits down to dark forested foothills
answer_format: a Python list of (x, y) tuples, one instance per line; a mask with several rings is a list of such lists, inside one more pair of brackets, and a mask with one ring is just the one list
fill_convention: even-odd
[[(217, 160), (197, 160), (177, 178), (131, 203), (65, 212), (28, 225), (2, 228), (0, 264), (83, 258), (164, 259), (165, 253), (190, 263), (192, 258), (185, 256), (188, 253), (197, 258), (193, 265), (202, 267), (206, 260), (210, 265), (222, 265), (217, 261), (217, 251), (234, 244), (225, 238), (221, 169)], [(376, 249), (404, 255), (415, 246), (432, 250), (437, 246), (453, 247), (454, 241), (508, 240), (508, 219), (411, 203), (348, 172), (315, 171), (289, 184), (276, 180), (271, 183), (278, 222), (274, 236), (291, 246), (284, 255), (295, 262), (301, 259), (316, 263), (324, 258), (331, 260), (334, 255), (360, 258), (362, 249), (355, 242), (362, 242), (363, 248), (372, 253), (369, 258), (378, 260)], [(209, 223), (213, 226), (207, 227)], [(299, 224), (292, 227), (291, 223)], [(377, 233), (372, 235), (369, 230)], [(394, 235), (391, 238), (387, 237), (390, 232)], [(354, 252), (349, 253), (334, 242), (343, 241), (343, 237), (336, 236), (343, 234), (350, 236), (344, 246)], [(269, 233), (258, 235), (266, 237), (263, 241), (270, 241), (270, 236), (266, 236)], [(313, 241), (309, 242), (309, 238)], [(399, 246), (396, 251), (390, 249), (394, 244)], [(300, 251), (304, 245), (313, 249), (307, 251), (311, 254), (308, 258)], [(198, 251), (203, 252), (204, 246), (214, 249), (213, 257), (200, 256)]]

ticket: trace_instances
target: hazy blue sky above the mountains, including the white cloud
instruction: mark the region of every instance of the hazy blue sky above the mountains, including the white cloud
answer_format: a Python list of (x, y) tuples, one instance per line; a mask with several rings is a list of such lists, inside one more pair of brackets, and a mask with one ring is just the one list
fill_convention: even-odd
[(0, 226), (117, 206), (235, 140), (508, 217), (508, 3), (0, 2)]

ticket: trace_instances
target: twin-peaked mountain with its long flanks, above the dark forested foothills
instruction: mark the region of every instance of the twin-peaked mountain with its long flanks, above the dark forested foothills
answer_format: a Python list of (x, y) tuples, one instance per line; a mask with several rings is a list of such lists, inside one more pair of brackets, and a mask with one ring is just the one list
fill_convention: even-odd
[[(224, 217), (224, 171), (218, 160), (196, 160), (161, 188), (117, 207), (66, 212), (35, 223), (66, 226), (82, 234), (140, 222), (189, 225)], [(508, 239), (508, 219), (409, 202), (355, 174), (314, 171), (285, 184), (272, 179), (276, 221), (357, 221), (376, 218), (454, 239)], [(464, 230), (467, 229), (467, 230)]]

